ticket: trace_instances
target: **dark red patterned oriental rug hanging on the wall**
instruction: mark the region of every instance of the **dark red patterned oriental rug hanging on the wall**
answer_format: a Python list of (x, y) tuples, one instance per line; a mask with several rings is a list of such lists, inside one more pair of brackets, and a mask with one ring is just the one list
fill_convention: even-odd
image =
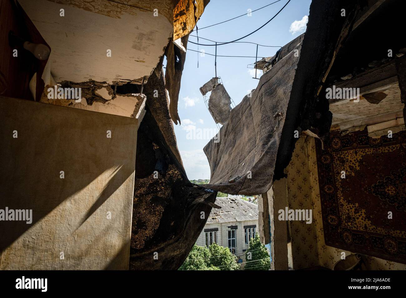
[(326, 244), (406, 264), (405, 131), (337, 132), (324, 150), (316, 143)]

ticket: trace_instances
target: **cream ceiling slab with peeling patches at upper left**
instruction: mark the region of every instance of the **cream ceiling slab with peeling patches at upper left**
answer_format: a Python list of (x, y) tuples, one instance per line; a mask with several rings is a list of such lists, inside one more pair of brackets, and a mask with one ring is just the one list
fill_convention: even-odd
[[(140, 84), (158, 64), (173, 32), (172, 19), (164, 15), (172, 12), (172, 0), (149, 1), (151, 7), (131, 0), (19, 3), (51, 47), (51, 72), (57, 83)], [(60, 9), (64, 9), (64, 16), (60, 16)], [(153, 9), (158, 9), (158, 16)]]

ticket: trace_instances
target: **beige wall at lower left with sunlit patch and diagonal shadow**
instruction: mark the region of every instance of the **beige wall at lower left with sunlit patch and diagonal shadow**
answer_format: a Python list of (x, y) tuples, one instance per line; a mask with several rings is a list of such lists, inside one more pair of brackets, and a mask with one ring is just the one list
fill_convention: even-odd
[(32, 210), (0, 222), (0, 269), (127, 270), (137, 120), (2, 96), (0, 110), (1, 208)]

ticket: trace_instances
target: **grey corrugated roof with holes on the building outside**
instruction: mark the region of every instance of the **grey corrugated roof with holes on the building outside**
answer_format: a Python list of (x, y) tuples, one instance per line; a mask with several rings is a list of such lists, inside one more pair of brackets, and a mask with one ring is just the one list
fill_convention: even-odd
[(258, 219), (258, 205), (236, 197), (217, 197), (207, 223), (229, 223), (233, 221), (253, 221)]

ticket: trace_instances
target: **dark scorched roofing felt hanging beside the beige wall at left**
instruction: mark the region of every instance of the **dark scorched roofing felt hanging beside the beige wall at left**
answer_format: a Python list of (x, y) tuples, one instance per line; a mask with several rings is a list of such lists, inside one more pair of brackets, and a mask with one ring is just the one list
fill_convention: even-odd
[(137, 134), (130, 270), (179, 268), (207, 221), (201, 212), (210, 214), (216, 207), (217, 192), (193, 185), (186, 176), (162, 64), (157, 67), (144, 86), (146, 111)]

